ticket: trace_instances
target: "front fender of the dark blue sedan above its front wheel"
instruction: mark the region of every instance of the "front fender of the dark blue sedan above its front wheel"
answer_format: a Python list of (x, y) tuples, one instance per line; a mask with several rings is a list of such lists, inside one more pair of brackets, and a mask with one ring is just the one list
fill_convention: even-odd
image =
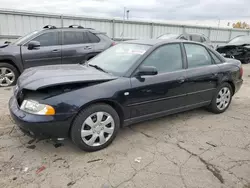
[(80, 89), (64, 92), (43, 102), (54, 106), (59, 113), (78, 113), (93, 103), (105, 102), (118, 107), (127, 117), (129, 114), (126, 110), (127, 101), (124, 92), (129, 88), (129, 78), (118, 78), (92, 86), (83, 85)]

